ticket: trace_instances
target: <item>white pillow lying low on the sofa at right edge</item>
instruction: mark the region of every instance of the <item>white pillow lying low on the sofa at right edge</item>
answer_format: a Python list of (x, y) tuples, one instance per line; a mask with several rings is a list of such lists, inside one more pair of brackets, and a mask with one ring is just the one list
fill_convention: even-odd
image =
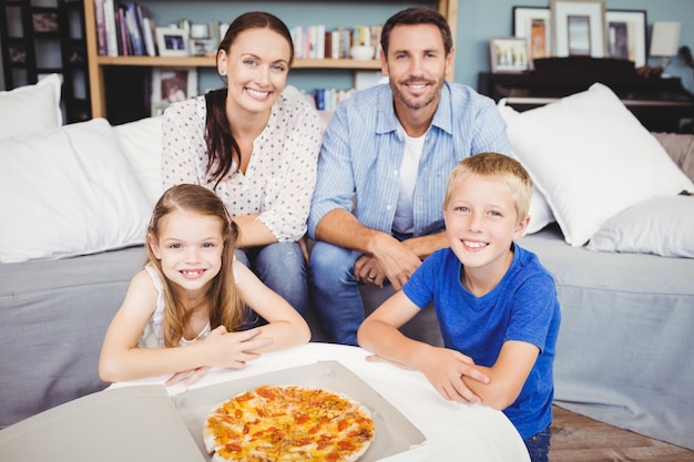
[(605, 222), (585, 248), (694, 258), (694, 196), (633, 205)]

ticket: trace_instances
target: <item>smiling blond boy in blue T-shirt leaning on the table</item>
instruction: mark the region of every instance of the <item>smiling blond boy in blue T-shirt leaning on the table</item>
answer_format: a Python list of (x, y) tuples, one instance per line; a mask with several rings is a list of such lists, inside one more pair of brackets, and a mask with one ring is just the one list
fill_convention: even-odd
[[(446, 399), (503, 410), (533, 462), (548, 461), (560, 310), (552, 276), (514, 243), (530, 223), (532, 182), (520, 163), (482, 153), (446, 188), (450, 247), (429, 256), (401, 291), (360, 326), (359, 345), (425, 373)], [(398, 330), (433, 301), (445, 348)]]

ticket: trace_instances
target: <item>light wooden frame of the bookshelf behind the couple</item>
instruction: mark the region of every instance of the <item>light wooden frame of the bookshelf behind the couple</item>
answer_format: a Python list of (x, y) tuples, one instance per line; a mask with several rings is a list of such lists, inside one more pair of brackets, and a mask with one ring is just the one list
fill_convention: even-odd
[[(438, 0), (438, 10), (448, 19), (453, 40), (456, 38), (456, 21), (458, 0)], [(99, 55), (96, 44), (96, 24), (94, 21), (94, 1), (84, 1), (86, 55), (89, 62), (89, 88), (91, 93), (91, 109), (93, 117), (106, 116), (106, 89), (104, 69), (108, 66), (140, 66), (140, 68), (215, 68), (214, 58), (210, 57), (104, 57)], [(379, 60), (357, 61), (343, 60), (295, 60), (292, 69), (346, 69), (346, 70), (374, 70), (380, 69)]]

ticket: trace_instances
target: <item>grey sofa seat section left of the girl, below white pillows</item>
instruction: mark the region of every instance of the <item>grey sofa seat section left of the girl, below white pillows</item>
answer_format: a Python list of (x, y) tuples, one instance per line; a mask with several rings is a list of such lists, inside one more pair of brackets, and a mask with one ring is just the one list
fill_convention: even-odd
[(0, 428), (106, 387), (101, 343), (146, 255), (0, 265)]

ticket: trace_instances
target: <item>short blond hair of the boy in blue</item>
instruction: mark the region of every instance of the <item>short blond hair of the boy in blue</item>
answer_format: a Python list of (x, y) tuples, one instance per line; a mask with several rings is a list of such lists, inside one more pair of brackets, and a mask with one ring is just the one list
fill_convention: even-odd
[(448, 177), (443, 208), (448, 207), (452, 191), (458, 183), (473, 175), (498, 181), (508, 186), (518, 215), (516, 224), (528, 215), (532, 197), (530, 175), (520, 162), (499, 153), (480, 153), (460, 161)]

